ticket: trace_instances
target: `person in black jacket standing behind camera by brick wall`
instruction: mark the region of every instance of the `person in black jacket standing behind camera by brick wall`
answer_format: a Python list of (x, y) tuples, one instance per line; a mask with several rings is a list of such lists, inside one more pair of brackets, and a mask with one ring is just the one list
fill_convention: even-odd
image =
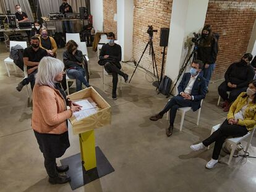
[(197, 59), (204, 64), (202, 75), (208, 85), (211, 80), (211, 75), (215, 69), (216, 57), (218, 54), (218, 40), (211, 33), (211, 26), (205, 25), (202, 30), (202, 39), (198, 42)]

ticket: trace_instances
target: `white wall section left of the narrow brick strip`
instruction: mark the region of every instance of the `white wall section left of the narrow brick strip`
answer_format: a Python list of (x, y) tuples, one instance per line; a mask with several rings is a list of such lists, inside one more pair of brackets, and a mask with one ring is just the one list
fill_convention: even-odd
[(90, 0), (90, 6), (95, 31), (103, 31), (103, 0)]

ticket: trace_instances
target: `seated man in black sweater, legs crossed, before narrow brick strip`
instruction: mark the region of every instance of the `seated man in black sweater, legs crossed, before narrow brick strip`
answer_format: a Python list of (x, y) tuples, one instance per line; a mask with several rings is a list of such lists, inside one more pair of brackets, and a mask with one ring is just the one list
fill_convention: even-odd
[(104, 65), (106, 72), (112, 73), (113, 76), (113, 90), (112, 98), (117, 99), (116, 88), (118, 82), (118, 75), (121, 75), (124, 78), (124, 81), (127, 83), (128, 75), (121, 71), (120, 61), (122, 59), (122, 50), (119, 44), (114, 43), (114, 33), (108, 33), (108, 42), (102, 46), (100, 51), (100, 65)]

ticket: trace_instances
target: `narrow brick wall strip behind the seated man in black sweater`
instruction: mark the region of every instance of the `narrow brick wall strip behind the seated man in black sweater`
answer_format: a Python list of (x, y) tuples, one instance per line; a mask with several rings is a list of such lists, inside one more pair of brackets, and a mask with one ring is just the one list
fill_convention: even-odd
[(113, 32), (117, 38), (117, 22), (114, 14), (117, 13), (116, 0), (103, 0), (103, 26), (104, 31)]

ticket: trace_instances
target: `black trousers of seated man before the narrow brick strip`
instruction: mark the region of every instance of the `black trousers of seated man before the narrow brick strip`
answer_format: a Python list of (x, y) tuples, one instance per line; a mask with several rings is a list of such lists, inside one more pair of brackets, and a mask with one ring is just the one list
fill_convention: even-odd
[(112, 82), (113, 82), (112, 94), (116, 94), (118, 75), (121, 75), (122, 77), (124, 77), (126, 75), (126, 73), (122, 72), (115, 64), (110, 63), (110, 62), (106, 62), (106, 64), (104, 65), (104, 68), (105, 68), (106, 72), (112, 73), (112, 77), (113, 77), (113, 79), (112, 79)]

